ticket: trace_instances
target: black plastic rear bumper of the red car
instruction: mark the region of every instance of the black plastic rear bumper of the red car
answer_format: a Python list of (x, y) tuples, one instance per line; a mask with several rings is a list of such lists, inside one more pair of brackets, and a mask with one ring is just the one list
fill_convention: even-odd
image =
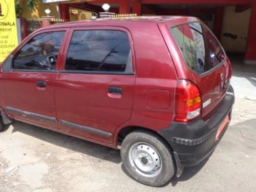
[(170, 127), (158, 132), (173, 148), (177, 164), (177, 176), (182, 173), (184, 166), (196, 165), (214, 151), (229, 122), (219, 140), (215, 141), (218, 129), (227, 116), (231, 119), (233, 103), (234, 92), (230, 86), (220, 109), (207, 121), (197, 119), (190, 123), (173, 122)]

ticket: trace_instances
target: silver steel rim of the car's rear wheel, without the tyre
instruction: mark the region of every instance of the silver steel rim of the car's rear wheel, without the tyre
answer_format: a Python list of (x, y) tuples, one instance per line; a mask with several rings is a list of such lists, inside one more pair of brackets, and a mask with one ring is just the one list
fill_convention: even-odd
[(136, 172), (144, 177), (155, 177), (162, 169), (159, 153), (148, 143), (135, 143), (130, 148), (129, 160)]

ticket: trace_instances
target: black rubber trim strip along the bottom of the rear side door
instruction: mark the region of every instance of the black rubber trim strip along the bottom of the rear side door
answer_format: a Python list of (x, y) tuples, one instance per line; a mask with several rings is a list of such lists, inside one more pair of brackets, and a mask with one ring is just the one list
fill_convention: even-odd
[(97, 135), (100, 135), (103, 137), (108, 137), (108, 138), (112, 137), (112, 134), (109, 132), (101, 131), (101, 130), (98, 130), (98, 129), (95, 129), (95, 128), (92, 128), (89, 126), (84, 126), (84, 125), (72, 123), (72, 122), (65, 121), (65, 120), (60, 120), (60, 123), (65, 126), (69, 126), (72, 128), (76, 128), (76, 129), (80, 129), (80, 130), (87, 131), (90, 133), (94, 133), (94, 134), (97, 134)]

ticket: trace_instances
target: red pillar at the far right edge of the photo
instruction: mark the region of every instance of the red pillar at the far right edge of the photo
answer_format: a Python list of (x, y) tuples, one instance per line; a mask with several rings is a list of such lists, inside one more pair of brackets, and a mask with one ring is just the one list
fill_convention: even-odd
[(256, 3), (251, 5), (251, 17), (247, 36), (245, 63), (256, 64)]

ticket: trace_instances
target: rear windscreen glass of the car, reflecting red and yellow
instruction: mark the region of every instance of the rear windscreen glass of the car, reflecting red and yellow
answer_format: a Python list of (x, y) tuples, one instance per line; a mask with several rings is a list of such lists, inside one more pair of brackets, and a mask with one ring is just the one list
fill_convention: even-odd
[(209, 29), (199, 22), (172, 28), (189, 68), (199, 74), (215, 68), (225, 59), (225, 53)]

